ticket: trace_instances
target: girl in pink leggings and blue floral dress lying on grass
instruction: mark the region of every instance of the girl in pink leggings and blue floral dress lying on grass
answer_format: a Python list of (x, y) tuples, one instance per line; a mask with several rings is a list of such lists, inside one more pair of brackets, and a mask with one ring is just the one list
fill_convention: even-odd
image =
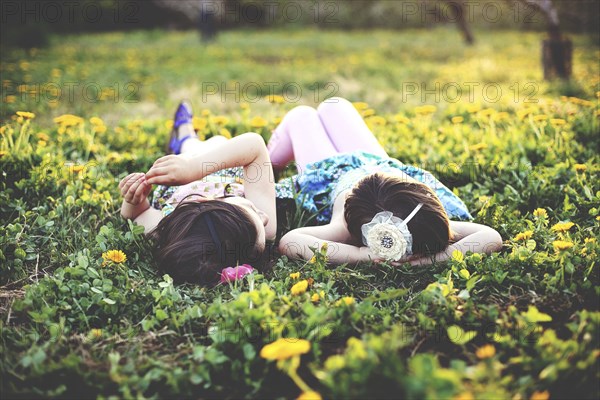
[(450, 221), (472, 218), (462, 200), (428, 171), (390, 158), (345, 99), (292, 109), (267, 148), (276, 170), (296, 162), (293, 197), (322, 224), (285, 234), (279, 249), (288, 257), (309, 260), (326, 243), (334, 263), (420, 265), (502, 245), (490, 227)]

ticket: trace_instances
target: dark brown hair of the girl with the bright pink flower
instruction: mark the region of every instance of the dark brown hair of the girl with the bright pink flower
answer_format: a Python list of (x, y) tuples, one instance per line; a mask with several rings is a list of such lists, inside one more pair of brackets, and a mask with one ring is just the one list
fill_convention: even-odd
[(254, 266), (264, 251), (256, 246), (258, 232), (246, 211), (218, 200), (181, 202), (151, 237), (159, 271), (178, 283), (214, 284), (223, 268)]

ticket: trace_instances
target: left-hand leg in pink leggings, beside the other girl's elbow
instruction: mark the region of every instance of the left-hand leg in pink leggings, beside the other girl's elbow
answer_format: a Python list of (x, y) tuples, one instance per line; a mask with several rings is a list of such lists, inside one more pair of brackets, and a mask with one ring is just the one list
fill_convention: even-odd
[(309, 106), (290, 110), (273, 131), (267, 147), (275, 169), (282, 169), (296, 160), (298, 169), (302, 170), (309, 163), (338, 153), (321, 124), (317, 110)]

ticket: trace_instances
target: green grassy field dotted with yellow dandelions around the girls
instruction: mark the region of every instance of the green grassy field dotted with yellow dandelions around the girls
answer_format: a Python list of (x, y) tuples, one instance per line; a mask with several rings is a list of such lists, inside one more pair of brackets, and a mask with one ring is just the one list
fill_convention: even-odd
[[(573, 37), (573, 80), (549, 84), (539, 34), (476, 35), (156, 31), (3, 51), (3, 397), (600, 396), (599, 48)], [(117, 184), (163, 154), (176, 104), (204, 137), (268, 139), (332, 95), (502, 251), (417, 269), (315, 249), (216, 288), (159, 276)]]

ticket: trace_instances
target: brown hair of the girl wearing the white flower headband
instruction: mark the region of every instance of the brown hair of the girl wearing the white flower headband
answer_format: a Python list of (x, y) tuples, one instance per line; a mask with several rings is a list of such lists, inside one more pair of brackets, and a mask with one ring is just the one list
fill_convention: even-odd
[(344, 218), (352, 238), (362, 243), (361, 227), (371, 222), (375, 214), (390, 211), (405, 219), (419, 203), (423, 206), (408, 222), (408, 230), (413, 237), (413, 254), (433, 254), (444, 250), (452, 238), (448, 215), (435, 192), (419, 182), (406, 182), (382, 173), (369, 175), (350, 192)]

